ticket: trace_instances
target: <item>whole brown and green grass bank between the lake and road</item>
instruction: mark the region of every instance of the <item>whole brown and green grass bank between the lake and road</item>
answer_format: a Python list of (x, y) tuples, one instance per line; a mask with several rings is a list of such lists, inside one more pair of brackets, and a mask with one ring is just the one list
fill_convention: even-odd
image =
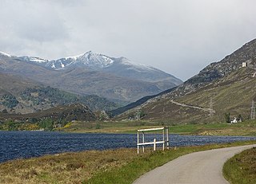
[(0, 164), (0, 183), (131, 183), (156, 166), (194, 151), (256, 143), (239, 142), (200, 147), (178, 147), (169, 151), (136, 149), (83, 151)]

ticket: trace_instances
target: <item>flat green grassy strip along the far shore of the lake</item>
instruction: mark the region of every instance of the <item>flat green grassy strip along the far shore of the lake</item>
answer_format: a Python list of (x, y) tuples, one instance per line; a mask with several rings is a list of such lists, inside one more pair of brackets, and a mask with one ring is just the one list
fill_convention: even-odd
[(182, 135), (256, 135), (256, 121), (242, 123), (174, 124), (168, 122), (120, 121), (120, 122), (76, 122), (62, 131), (98, 133), (135, 133), (147, 127), (169, 126), (171, 134)]

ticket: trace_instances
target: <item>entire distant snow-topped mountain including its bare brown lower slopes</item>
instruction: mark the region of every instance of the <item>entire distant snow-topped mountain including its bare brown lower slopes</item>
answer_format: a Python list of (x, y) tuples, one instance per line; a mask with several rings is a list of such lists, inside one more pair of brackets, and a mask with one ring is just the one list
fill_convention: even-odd
[(124, 57), (106, 57), (92, 52), (56, 61), (2, 54), (0, 72), (33, 79), (67, 92), (102, 96), (121, 104), (182, 83), (158, 69), (130, 64)]

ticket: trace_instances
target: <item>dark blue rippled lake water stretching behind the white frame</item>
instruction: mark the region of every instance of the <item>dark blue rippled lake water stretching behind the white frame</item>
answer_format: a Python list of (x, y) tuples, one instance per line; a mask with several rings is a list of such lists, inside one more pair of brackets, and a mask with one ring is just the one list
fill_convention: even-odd
[[(146, 141), (161, 135), (146, 135)], [(170, 146), (230, 143), (256, 137), (170, 135)], [(0, 162), (66, 151), (104, 150), (136, 147), (137, 135), (72, 134), (45, 131), (0, 131)]]

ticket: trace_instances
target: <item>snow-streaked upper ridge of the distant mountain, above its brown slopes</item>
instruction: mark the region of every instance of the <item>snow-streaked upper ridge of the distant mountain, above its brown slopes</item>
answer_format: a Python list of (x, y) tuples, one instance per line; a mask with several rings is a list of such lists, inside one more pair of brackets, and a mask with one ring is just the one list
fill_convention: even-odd
[(162, 90), (182, 84), (182, 80), (154, 67), (135, 64), (126, 57), (108, 57), (91, 51), (78, 56), (63, 57), (51, 61), (38, 57), (19, 57), (19, 59), (43, 65), (47, 69), (63, 70), (82, 68), (106, 72), (116, 76), (124, 76), (134, 80), (154, 82), (158, 83), (158, 87)]

